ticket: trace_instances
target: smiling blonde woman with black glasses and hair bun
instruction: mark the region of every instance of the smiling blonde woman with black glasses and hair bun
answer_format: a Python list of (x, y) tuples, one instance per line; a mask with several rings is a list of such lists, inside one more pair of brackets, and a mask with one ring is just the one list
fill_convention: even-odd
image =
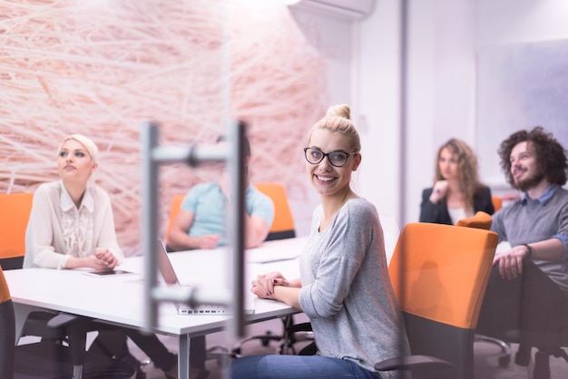
[(300, 277), (260, 275), (251, 291), (297, 308), (310, 320), (317, 355), (246, 356), (230, 366), (232, 378), (393, 379), (374, 364), (406, 355), (408, 343), (390, 282), (377, 209), (351, 189), (361, 164), (357, 129), (348, 106), (316, 122), (304, 149), (308, 181), (321, 204), (315, 209)]

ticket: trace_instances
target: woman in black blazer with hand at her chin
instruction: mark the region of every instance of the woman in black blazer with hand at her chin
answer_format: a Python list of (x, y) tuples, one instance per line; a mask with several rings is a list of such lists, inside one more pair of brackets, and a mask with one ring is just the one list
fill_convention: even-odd
[(477, 158), (464, 141), (442, 145), (435, 170), (434, 186), (422, 191), (420, 222), (455, 225), (479, 210), (495, 212), (491, 190), (479, 181)]

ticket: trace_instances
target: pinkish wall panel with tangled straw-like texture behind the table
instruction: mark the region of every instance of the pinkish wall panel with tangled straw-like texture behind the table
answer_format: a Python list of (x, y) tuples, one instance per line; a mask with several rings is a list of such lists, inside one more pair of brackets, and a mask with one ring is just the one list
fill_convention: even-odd
[[(251, 179), (307, 196), (301, 148), (328, 105), (323, 59), (285, 7), (259, 17), (250, 6), (1, 2), (0, 192), (57, 180), (59, 142), (74, 132), (90, 136), (101, 150), (95, 180), (111, 193), (119, 242), (133, 254), (141, 122), (162, 124), (161, 144), (187, 145), (214, 141), (234, 117), (250, 123)], [(174, 193), (215, 175), (162, 166), (162, 219)]]

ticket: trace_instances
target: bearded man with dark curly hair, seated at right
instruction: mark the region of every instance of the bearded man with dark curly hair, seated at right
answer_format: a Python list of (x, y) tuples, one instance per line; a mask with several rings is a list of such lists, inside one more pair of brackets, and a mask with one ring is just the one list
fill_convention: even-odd
[(493, 216), (491, 229), (511, 248), (494, 258), (476, 333), (520, 343), (516, 363), (526, 365), (529, 337), (556, 345), (568, 323), (568, 160), (542, 127), (514, 132), (498, 152), (523, 195)]

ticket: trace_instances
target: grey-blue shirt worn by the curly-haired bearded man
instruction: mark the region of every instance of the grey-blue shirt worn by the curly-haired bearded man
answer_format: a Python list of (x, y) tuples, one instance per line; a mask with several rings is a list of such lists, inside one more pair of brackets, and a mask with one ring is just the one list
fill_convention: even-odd
[(540, 199), (532, 200), (524, 196), (495, 213), (491, 229), (499, 235), (500, 242), (508, 241), (512, 247), (553, 237), (562, 240), (564, 257), (561, 262), (534, 259), (534, 264), (564, 291), (568, 291), (568, 272), (565, 267), (568, 190), (553, 186), (546, 190)]

